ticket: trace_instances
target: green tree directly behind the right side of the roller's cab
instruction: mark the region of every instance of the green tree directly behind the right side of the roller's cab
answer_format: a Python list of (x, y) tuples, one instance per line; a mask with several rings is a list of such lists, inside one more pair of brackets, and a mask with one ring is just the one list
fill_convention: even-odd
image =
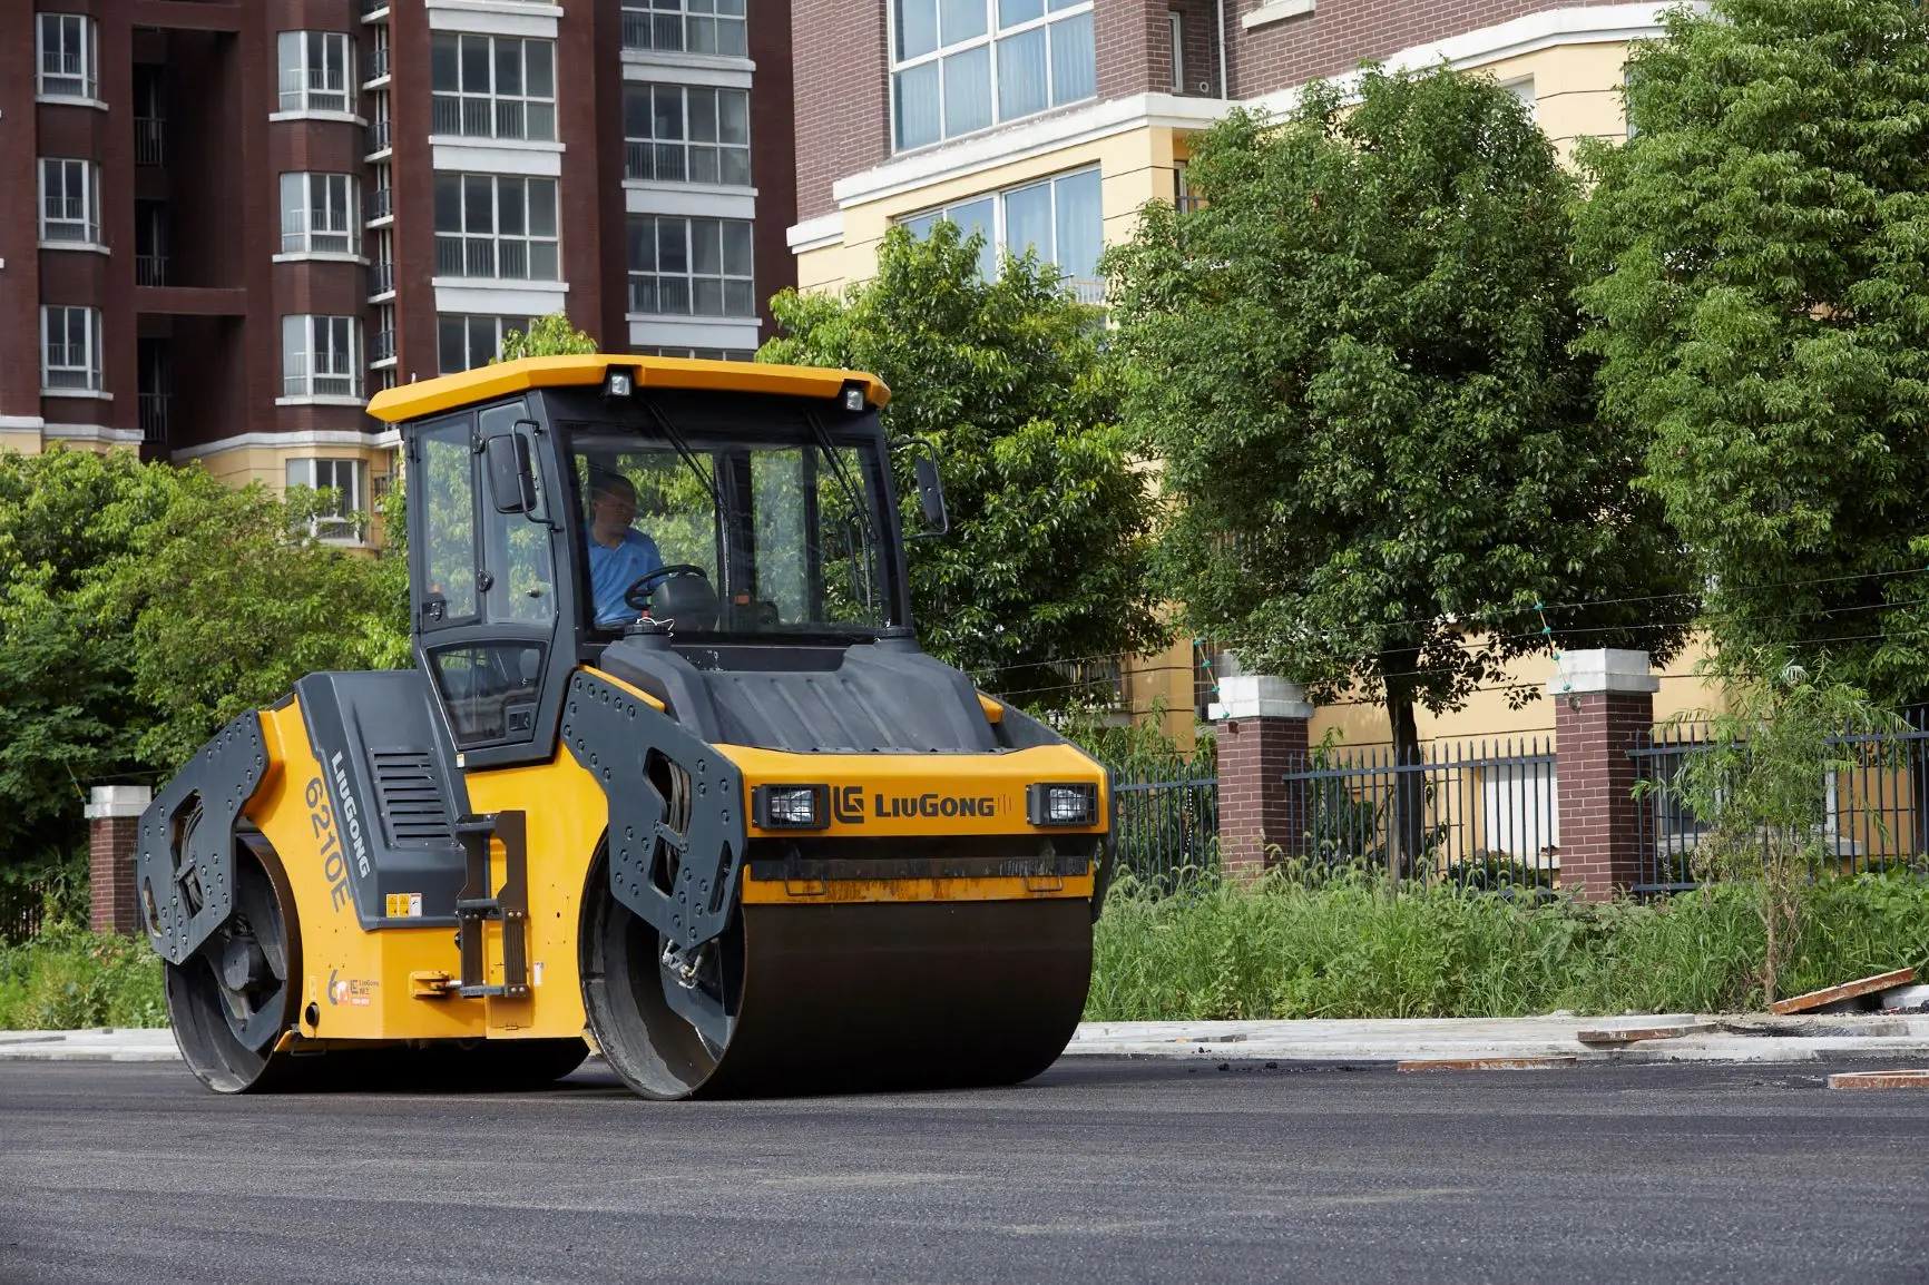
[[(1150, 488), (1117, 428), (1094, 309), (1059, 272), (976, 237), (893, 228), (878, 276), (843, 297), (783, 291), (758, 361), (847, 367), (891, 386), (885, 430), (928, 438), (951, 534), (910, 544), (910, 602), (932, 654), (1026, 704), (1071, 704), (1059, 666), (1161, 641), (1146, 577)], [(918, 513), (909, 461), (899, 502)]]

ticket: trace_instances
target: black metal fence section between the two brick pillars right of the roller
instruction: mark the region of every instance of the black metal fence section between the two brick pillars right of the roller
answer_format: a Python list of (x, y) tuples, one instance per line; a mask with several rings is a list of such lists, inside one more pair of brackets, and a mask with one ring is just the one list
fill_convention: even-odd
[(1549, 888), (1561, 866), (1551, 743), (1314, 751), (1285, 774), (1291, 862), (1468, 888)]

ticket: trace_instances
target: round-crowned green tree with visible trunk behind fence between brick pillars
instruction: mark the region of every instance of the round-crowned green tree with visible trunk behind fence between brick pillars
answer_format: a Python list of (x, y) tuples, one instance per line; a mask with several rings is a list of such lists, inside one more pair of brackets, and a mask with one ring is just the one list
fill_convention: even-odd
[(1370, 69), (1354, 110), (1314, 85), (1285, 120), (1235, 112), (1186, 178), (1204, 208), (1148, 205), (1107, 270), (1194, 633), (1383, 700), (1406, 760), (1416, 706), (1549, 641), (1678, 648), (1624, 602), (1686, 585), (1568, 355), (1574, 185), (1510, 93)]

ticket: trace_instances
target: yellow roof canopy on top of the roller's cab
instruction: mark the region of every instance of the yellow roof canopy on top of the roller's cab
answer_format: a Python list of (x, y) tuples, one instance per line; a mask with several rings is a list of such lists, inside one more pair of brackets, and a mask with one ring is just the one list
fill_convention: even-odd
[(519, 357), (461, 374), (384, 388), (368, 401), (368, 415), (390, 424), (426, 419), (478, 401), (494, 401), (530, 388), (600, 386), (611, 369), (629, 369), (637, 392), (646, 388), (696, 388), (712, 392), (777, 394), (831, 399), (845, 384), (862, 384), (864, 397), (882, 407), (891, 390), (876, 374), (826, 367), (774, 367), (750, 361), (691, 361), (685, 357)]

